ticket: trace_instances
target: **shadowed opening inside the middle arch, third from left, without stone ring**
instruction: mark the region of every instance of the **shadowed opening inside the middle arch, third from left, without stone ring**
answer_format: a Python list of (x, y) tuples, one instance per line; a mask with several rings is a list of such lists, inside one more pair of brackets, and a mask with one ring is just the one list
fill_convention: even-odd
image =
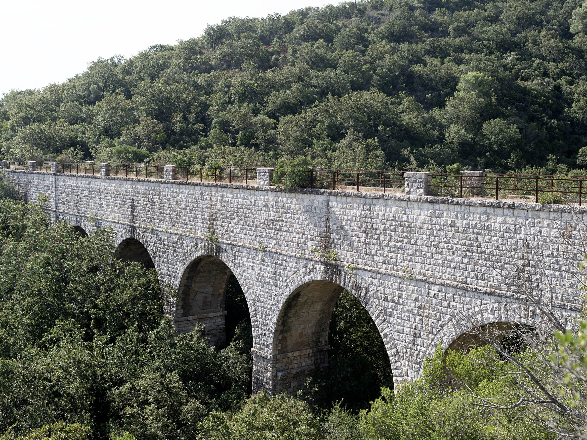
[(232, 336), (235, 322), (230, 307), (233, 304), (230, 301), (227, 310), (229, 287), (231, 299), (238, 302), (241, 309), (236, 313), (237, 316), (248, 320), (250, 326), (251, 314), (247, 299), (236, 274), (227, 263), (218, 256), (208, 254), (199, 255), (191, 260), (185, 267), (178, 286), (176, 330), (187, 333), (196, 323), (200, 323), (204, 326), (205, 335), (210, 339), (211, 345), (225, 346), (230, 342), (227, 341), (227, 330)]

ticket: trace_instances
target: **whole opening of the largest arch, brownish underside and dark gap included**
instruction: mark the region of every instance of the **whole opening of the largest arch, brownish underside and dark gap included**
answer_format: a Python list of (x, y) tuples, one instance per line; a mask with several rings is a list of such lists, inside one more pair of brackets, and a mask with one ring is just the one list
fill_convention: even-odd
[(289, 380), (302, 383), (301, 388), (309, 377), (312, 384), (304, 392), (323, 408), (336, 401), (350, 409), (367, 408), (382, 386), (393, 388), (389, 356), (375, 322), (359, 300), (335, 283), (305, 283), (282, 307), (274, 353), (289, 357), (298, 352), (310, 352), (297, 363), (311, 364), (310, 368), (299, 376), (286, 364), (277, 368), (290, 374)]

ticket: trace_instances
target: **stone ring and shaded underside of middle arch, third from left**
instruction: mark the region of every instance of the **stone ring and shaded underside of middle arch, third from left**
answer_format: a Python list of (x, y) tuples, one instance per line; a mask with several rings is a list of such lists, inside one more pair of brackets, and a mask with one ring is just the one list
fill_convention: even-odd
[[(236, 277), (247, 304), (250, 304), (249, 286), (230, 252), (218, 245), (200, 249), (195, 245), (181, 259), (174, 283), (178, 292), (174, 321), (180, 332), (190, 331), (195, 323), (201, 323), (210, 343), (222, 345), (227, 342), (225, 294), (228, 279), (231, 274)], [(255, 340), (254, 307), (249, 306), (249, 313)]]

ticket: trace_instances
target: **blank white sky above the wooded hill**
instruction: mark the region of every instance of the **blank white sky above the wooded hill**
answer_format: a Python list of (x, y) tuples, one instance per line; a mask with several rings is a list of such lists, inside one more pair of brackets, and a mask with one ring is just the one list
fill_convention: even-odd
[(0, 96), (82, 73), (97, 57), (130, 57), (199, 36), (229, 16), (266, 16), (328, 0), (0, 0)]

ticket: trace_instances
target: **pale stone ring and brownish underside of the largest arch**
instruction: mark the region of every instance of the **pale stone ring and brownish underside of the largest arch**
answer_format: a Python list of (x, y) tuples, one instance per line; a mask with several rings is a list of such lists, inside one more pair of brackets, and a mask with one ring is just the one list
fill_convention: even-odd
[(272, 360), (272, 392), (294, 392), (313, 371), (328, 366), (328, 326), (343, 290), (365, 307), (386, 346), (396, 375), (403, 378), (402, 361), (383, 310), (357, 275), (334, 265), (312, 265), (298, 270), (282, 285), (268, 319), (268, 359)]

